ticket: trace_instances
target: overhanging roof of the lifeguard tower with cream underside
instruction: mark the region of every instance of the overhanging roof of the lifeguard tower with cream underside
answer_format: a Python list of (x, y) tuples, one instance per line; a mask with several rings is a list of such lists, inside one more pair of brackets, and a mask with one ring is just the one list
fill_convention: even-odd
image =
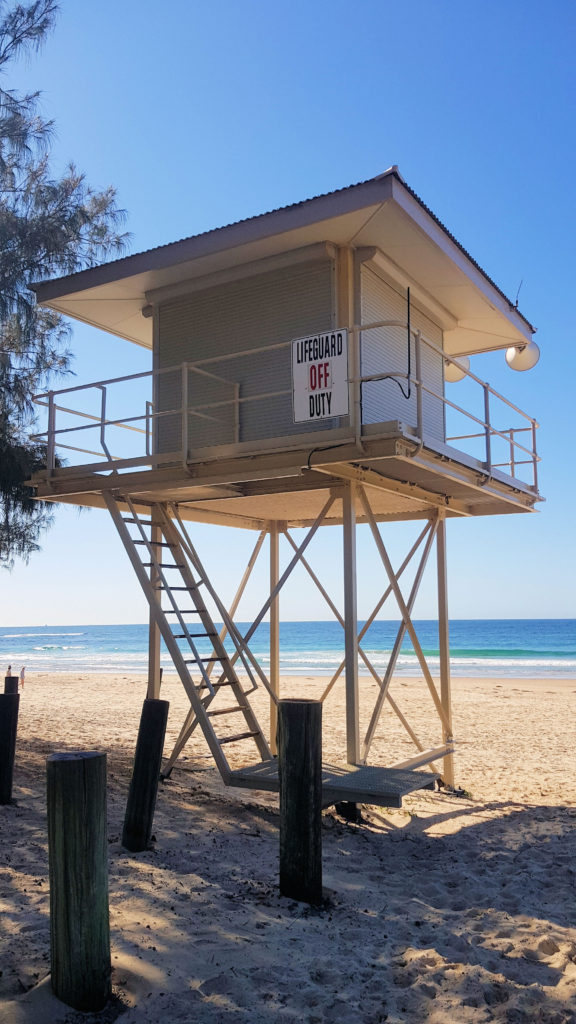
[(339, 191), (32, 287), (41, 305), (152, 348), (153, 322), (142, 310), (159, 290), (202, 278), (208, 282), (218, 272), (318, 243), (379, 250), (388, 273), (436, 310), (450, 354), (526, 344), (534, 333), (396, 168)]

